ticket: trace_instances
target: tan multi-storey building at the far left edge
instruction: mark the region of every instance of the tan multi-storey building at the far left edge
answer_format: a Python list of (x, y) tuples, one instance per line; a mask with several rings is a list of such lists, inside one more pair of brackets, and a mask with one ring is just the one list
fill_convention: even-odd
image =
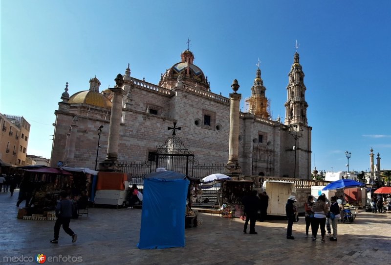
[(0, 124), (0, 159), (17, 166), (25, 165), (30, 123), (22, 116), (0, 113)]

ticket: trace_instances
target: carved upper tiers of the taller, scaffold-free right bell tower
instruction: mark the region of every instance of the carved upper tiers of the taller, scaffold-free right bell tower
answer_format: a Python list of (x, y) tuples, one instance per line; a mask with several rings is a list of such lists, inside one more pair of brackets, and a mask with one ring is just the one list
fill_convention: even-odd
[(294, 56), (294, 62), (288, 74), (289, 83), (286, 87), (287, 100), (285, 102), (285, 125), (302, 123), (307, 126), (307, 107), (305, 101), (304, 72), (299, 62), (299, 53)]

